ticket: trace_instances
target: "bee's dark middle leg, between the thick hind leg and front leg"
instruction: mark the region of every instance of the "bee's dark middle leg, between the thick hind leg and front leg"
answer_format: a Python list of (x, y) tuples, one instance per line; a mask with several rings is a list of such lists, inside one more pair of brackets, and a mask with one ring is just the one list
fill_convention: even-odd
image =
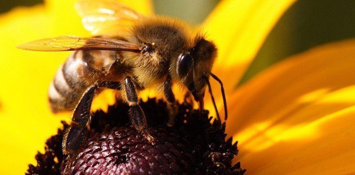
[(138, 132), (142, 133), (149, 142), (155, 144), (156, 140), (148, 133), (147, 120), (142, 108), (138, 104), (136, 87), (130, 76), (124, 79), (124, 91), (126, 93), (127, 103), (130, 106), (129, 117), (132, 125)]

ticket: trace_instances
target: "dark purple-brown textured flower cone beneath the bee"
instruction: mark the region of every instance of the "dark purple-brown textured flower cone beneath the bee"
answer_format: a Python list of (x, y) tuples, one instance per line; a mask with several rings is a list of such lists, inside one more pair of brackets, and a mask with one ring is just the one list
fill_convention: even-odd
[(62, 154), (64, 129), (48, 139), (45, 153), (36, 155), (37, 166), (27, 174), (227, 174), (243, 175), (240, 163), (232, 165), (237, 143), (225, 141), (225, 124), (210, 123), (208, 111), (199, 114), (187, 103), (179, 105), (176, 123), (166, 126), (166, 104), (156, 99), (141, 102), (152, 145), (129, 125), (128, 106), (118, 101), (108, 112), (93, 114), (88, 140), (72, 157)]

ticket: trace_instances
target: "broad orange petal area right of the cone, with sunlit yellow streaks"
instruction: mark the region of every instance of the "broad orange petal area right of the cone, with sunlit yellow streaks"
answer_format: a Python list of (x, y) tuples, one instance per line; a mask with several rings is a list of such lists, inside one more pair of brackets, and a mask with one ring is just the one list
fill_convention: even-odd
[(355, 39), (320, 46), (237, 89), (227, 132), (250, 174), (355, 173), (354, 55)]

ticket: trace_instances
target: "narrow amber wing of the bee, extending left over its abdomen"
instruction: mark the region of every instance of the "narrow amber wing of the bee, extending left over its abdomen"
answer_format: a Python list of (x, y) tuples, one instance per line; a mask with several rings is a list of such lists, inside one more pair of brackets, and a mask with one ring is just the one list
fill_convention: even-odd
[(40, 39), (18, 46), (20, 49), (32, 51), (77, 51), (77, 50), (110, 50), (139, 52), (137, 45), (112, 38), (84, 38), (76, 36), (59, 36)]

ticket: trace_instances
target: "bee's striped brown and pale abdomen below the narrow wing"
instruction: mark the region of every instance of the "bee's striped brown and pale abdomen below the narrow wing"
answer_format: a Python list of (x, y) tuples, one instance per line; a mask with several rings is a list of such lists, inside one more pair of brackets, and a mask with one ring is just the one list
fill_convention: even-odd
[(60, 66), (49, 87), (53, 112), (75, 108), (83, 92), (108, 73), (116, 61), (114, 51), (77, 51)]

